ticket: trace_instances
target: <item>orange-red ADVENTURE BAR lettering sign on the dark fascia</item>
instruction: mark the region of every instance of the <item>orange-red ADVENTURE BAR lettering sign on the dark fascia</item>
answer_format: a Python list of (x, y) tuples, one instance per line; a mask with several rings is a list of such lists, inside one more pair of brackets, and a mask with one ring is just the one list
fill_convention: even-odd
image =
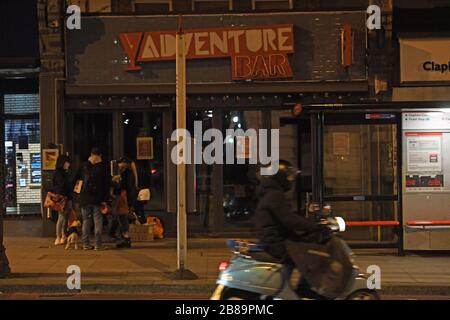
[[(120, 33), (128, 55), (126, 71), (141, 63), (175, 60), (176, 31)], [(292, 25), (185, 30), (187, 59), (231, 58), (233, 80), (293, 76), (288, 54), (294, 53)]]

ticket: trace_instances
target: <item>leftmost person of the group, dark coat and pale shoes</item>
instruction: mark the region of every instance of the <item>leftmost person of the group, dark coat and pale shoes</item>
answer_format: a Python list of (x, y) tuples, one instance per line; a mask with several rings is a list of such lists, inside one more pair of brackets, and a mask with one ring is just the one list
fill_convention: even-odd
[(56, 170), (52, 180), (52, 191), (65, 198), (65, 206), (63, 212), (58, 212), (58, 221), (56, 222), (56, 240), (55, 245), (62, 245), (66, 242), (67, 216), (72, 209), (72, 180), (70, 179), (71, 160), (66, 155), (60, 155), (56, 160)]

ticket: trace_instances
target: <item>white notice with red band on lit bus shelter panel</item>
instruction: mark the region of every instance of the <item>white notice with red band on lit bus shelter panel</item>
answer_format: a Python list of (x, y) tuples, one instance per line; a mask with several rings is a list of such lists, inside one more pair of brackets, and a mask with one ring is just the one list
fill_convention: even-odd
[(442, 133), (406, 133), (407, 191), (444, 190)]

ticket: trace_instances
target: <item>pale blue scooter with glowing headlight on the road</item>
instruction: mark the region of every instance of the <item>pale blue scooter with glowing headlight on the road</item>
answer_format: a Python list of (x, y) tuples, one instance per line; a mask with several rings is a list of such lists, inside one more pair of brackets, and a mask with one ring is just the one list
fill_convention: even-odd
[[(328, 237), (345, 231), (344, 219), (333, 217), (330, 208), (325, 213), (321, 211), (318, 218), (328, 227)], [(227, 246), (233, 254), (229, 261), (223, 261), (219, 265), (218, 286), (211, 300), (311, 300), (310, 297), (300, 295), (291, 285), (294, 267), (280, 264), (264, 252), (263, 245), (228, 240)], [(349, 248), (347, 254), (353, 255)], [(353, 259), (351, 261), (353, 263)], [(367, 287), (368, 275), (360, 273), (354, 264), (351, 279), (335, 300), (380, 299), (375, 290)], [(322, 297), (317, 294), (313, 299)]]

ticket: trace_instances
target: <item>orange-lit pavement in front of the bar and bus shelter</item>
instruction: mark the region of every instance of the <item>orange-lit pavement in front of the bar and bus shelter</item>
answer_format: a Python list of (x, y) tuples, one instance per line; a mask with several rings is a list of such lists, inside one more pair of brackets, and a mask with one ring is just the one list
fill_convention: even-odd
[[(106, 243), (104, 251), (65, 250), (49, 238), (5, 238), (12, 274), (0, 279), (0, 292), (68, 294), (67, 267), (81, 270), (81, 291), (92, 293), (212, 293), (218, 265), (230, 257), (225, 239), (189, 239), (187, 267), (196, 280), (173, 280), (176, 240), (135, 242), (130, 249)], [(355, 249), (363, 272), (381, 270), (381, 293), (386, 295), (450, 296), (450, 255), (447, 253), (398, 256), (394, 249)]]

